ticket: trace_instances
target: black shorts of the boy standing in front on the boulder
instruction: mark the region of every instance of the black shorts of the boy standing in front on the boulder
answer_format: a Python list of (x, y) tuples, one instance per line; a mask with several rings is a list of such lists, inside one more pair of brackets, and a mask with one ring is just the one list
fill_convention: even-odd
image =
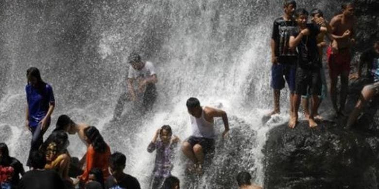
[(295, 94), (321, 95), (322, 82), (320, 69), (296, 69)]

